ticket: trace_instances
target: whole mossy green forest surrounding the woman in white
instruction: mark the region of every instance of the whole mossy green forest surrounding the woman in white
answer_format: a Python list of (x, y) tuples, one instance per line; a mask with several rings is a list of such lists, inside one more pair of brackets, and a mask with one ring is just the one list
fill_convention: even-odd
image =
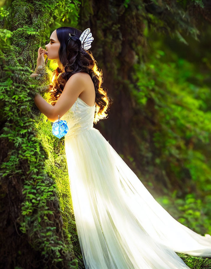
[[(94, 37), (113, 99), (94, 128), (175, 219), (211, 234), (210, 24), (204, 0), (0, 1), (1, 268), (85, 268), (64, 137), (30, 94), (38, 48), (61, 26)], [(210, 258), (178, 255), (211, 268)]]

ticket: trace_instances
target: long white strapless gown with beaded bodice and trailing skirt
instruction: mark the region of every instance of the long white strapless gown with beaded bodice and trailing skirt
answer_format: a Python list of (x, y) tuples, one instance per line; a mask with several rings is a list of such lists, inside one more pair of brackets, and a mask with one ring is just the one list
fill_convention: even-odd
[(82, 99), (61, 119), (70, 190), (86, 269), (189, 268), (175, 253), (211, 257), (211, 236), (175, 220), (93, 128)]

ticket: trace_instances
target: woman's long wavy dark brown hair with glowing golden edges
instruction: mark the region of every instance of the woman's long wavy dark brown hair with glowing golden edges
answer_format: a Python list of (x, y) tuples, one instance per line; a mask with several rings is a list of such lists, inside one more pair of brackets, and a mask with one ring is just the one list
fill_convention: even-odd
[[(73, 74), (84, 71), (91, 76), (94, 83), (96, 93), (94, 123), (96, 124), (100, 119), (104, 119), (108, 116), (106, 112), (109, 110), (113, 101), (107, 94), (107, 88), (101, 86), (103, 83), (102, 70), (98, 69), (97, 62), (91, 51), (85, 51), (82, 48), (82, 43), (79, 39), (82, 31), (73, 27), (64, 26), (57, 28), (56, 34), (60, 42), (59, 58), (63, 69), (61, 70), (57, 67), (52, 72), (52, 83), (45, 86), (46, 92), (50, 93), (48, 101), (54, 106), (67, 80)], [(76, 38), (70, 38), (69, 34), (74, 34)]]

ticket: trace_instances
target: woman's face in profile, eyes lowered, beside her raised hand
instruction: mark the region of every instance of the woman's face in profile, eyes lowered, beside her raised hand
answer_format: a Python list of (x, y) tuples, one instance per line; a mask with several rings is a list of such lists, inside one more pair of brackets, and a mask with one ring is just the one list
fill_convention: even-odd
[(46, 46), (47, 49), (47, 56), (49, 60), (57, 60), (57, 62), (60, 62), (59, 60), (59, 47), (60, 42), (58, 41), (56, 30), (54, 30), (50, 36), (50, 42)]

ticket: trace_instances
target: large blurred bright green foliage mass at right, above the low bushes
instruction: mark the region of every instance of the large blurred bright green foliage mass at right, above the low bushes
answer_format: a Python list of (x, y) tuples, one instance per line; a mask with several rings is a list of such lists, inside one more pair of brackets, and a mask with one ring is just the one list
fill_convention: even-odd
[[(208, 159), (203, 149), (194, 147), (200, 143), (208, 146), (210, 142), (211, 112), (207, 110), (210, 89), (191, 62), (176, 55), (174, 62), (166, 62), (162, 59), (165, 52), (157, 47), (151, 50), (148, 62), (134, 65), (136, 87), (130, 85), (133, 98), (144, 113), (153, 117), (156, 126), (155, 164), (178, 180), (189, 177), (198, 190), (210, 193)], [(149, 101), (153, 103), (153, 114), (147, 111)]]

